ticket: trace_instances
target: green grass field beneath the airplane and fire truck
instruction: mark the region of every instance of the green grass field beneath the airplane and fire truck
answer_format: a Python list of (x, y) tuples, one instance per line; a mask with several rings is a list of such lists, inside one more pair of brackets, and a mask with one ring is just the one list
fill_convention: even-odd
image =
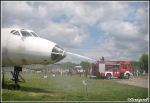
[[(127, 101), (128, 98), (148, 98), (148, 88), (72, 75), (43, 78), (44, 74), (22, 74), (26, 82), (19, 82), (21, 89), (12, 91), (7, 86), (11, 74), (5, 75), (2, 101)], [(85, 80), (86, 86), (82, 83)]]

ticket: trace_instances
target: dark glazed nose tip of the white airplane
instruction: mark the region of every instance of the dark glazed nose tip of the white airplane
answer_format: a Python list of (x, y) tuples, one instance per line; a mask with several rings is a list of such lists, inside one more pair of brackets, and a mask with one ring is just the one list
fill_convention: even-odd
[(51, 54), (51, 59), (55, 63), (62, 60), (63, 58), (66, 57), (66, 52), (63, 48), (61, 48), (58, 45), (55, 45), (52, 49), (52, 54)]

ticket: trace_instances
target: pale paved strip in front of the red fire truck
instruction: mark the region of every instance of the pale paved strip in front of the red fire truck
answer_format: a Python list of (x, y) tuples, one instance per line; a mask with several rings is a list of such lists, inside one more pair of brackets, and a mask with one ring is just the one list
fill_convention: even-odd
[(129, 84), (129, 85), (134, 85), (134, 86), (139, 86), (144, 88), (149, 87), (149, 79), (144, 77), (130, 76), (129, 79), (111, 78), (110, 80), (118, 83)]

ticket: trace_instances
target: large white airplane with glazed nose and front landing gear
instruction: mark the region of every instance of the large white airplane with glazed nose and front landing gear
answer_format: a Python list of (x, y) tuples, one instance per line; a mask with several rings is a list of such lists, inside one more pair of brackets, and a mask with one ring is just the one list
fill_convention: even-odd
[(66, 57), (66, 51), (56, 43), (40, 38), (34, 31), (1, 28), (2, 70), (14, 71), (15, 84), (8, 89), (19, 90), (19, 71), (22, 68), (40, 70)]

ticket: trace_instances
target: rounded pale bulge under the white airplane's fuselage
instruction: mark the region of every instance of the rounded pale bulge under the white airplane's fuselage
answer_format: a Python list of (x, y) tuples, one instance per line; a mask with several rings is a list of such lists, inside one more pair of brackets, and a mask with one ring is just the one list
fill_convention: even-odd
[(47, 65), (42, 65), (42, 64), (31, 64), (31, 65), (22, 65), (23, 68), (27, 68), (30, 70), (42, 70), (46, 68)]

